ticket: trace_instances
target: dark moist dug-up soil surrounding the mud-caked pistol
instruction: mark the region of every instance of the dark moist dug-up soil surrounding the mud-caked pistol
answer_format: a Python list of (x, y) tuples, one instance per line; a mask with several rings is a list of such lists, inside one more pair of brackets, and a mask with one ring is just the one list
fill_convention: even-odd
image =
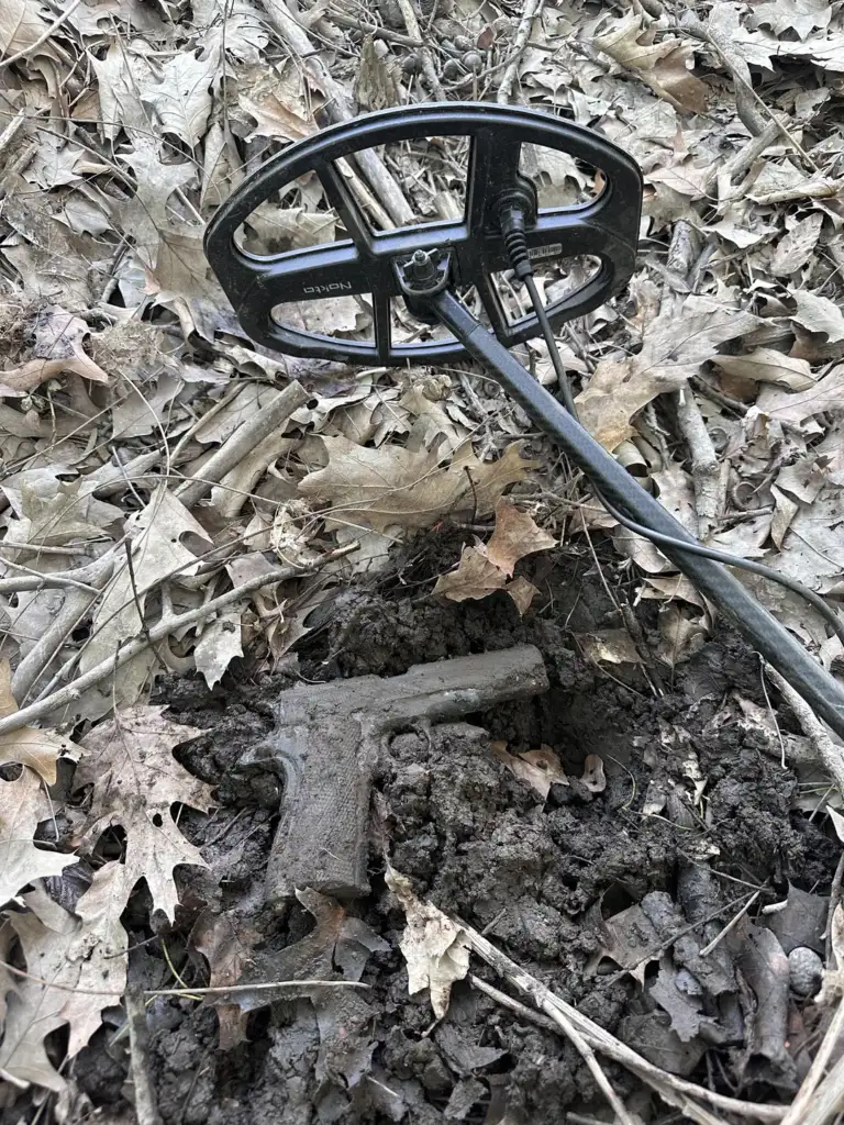
[[(662, 670), (665, 692), (657, 695), (641, 668), (598, 667), (578, 649), (575, 634), (621, 623), (591, 556), (560, 552), (523, 564), (540, 596), (522, 620), (504, 594), (459, 605), (433, 600), (438, 551), (454, 558), (455, 544), (432, 539), (412, 546), (377, 587), (339, 596), (288, 675), (257, 681), (244, 667), (213, 693), (196, 680), (159, 691), (155, 702), (169, 703), (178, 721), (208, 730), (179, 756), (218, 786), (219, 808), (210, 818), (186, 810), (181, 820), (209, 866), (182, 868), (176, 927), (150, 927), (143, 892), (127, 911), (131, 978), (147, 989), (173, 987), (174, 972), (188, 987), (208, 983), (190, 937), (208, 911), (227, 919), (264, 966), (287, 964), (282, 953), (314, 929), (303, 906), (278, 914), (263, 902), (278, 781), (237, 770), (244, 749), (271, 729), (271, 704), (296, 676), (395, 675), (415, 663), (530, 642), (551, 683), (535, 700), (430, 732), (407, 730), (383, 755), (372, 892), (349, 907), (372, 935), (366, 950), (354, 946), (370, 991), (351, 1001), (302, 994), (235, 1016), (245, 1040), (228, 1050), (221, 1050), (219, 1029), (231, 1009), (218, 1015), (173, 997), (151, 1002), (149, 1064), (162, 1120), (542, 1125), (567, 1112), (604, 1119), (572, 1045), (468, 982), (454, 988), (447, 1017), (432, 1026), (427, 991), (407, 993), (398, 948), (405, 918), (384, 881), (385, 847), (421, 899), (483, 930), (659, 1065), (733, 1096), (788, 1101), (806, 1065), (811, 1005), (787, 989), (790, 1045), (771, 1046), (761, 1026), (764, 972), (746, 951), (760, 946), (766, 918), (775, 917), (764, 908), (799, 891), (817, 921), (799, 940), (819, 940), (839, 846), (817, 817), (794, 811), (797, 776), (772, 756), (758, 724), (743, 719), (738, 699), (766, 706), (757, 658), (734, 634), (717, 634), (685, 665)], [(627, 580), (611, 564), (604, 577), (618, 588)], [(637, 614), (650, 636), (655, 611), (643, 604)], [(787, 711), (779, 719), (783, 731), (797, 730)], [(553, 748), (571, 784), (555, 784), (544, 802), (492, 754), (493, 740), (505, 740), (512, 754)], [(587, 755), (603, 760), (603, 792), (578, 780)], [(695, 803), (695, 793), (703, 800)], [(730, 939), (701, 957), (700, 947), (753, 889), (758, 898)], [(643, 925), (667, 937), (637, 979), (627, 970), (640, 960)], [(331, 969), (330, 947), (326, 956)], [(506, 990), (476, 958), (472, 971)], [(680, 1008), (670, 1016), (671, 1005), (657, 1002), (665, 996), (652, 991), (657, 981), (685, 982), (691, 1030)], [(128, 1065), (126, 1037), (115, 1028), (102, 1029), (73, 1062), (93, 1119), (126, 1113)], [(628, 1072), (612, 1063), (605, 1070), (644, 1122), (685, 1120)], [(71, 1110), (63, 1119), (88, 1117)]]

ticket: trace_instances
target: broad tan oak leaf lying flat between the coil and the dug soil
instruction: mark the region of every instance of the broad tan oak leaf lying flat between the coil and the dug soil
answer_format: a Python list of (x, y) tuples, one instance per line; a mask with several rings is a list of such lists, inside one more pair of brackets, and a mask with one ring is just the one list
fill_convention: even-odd
[(519, 443), (496, 461), (479, 461), (470, 447), (440, 465), (436, 450), (399, 446), (369, 449), (345, 438), (322, 436), (329, 464), (299, 484), (306, 496), (330, 505), (330, 525), (429, 528), (446, 515), (487, 515), (508, 487), (537, 467), (522, 460)]

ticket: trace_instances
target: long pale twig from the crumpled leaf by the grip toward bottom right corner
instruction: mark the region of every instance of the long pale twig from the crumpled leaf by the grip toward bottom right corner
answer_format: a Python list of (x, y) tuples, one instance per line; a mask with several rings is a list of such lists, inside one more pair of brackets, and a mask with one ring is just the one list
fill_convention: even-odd
[(541, 1011), (549, 1014), (548, 1009), (550, 1008), (556, 1012), (562, 1012), (591, 1047), (605, 1054), (609, 1059), (621, 1063), (622, 1066), (627, 1066), (628, 1070), (631, 1070), (644, 1082), (657, 1090), (665, 1101), (682, 1109), (689, 1116), (693, 1116), (695, 1120), (712, 1122), (717, 1119), (712, 1118), (706, 1110), (699, 1113), (701, 1107), (691, 1100), (695, 1098), (701, 1101), (708, 1101), (711, 1106), (724, 1113), (756, 1118), (762, 1122), (780, 1122), (784, 1116), (784, 1106), (740, 1101), (738, 1098), (717, 1094), (715, 1090), (708, 1090), (702, 1086), (697, 1086), (694, 1082), (689, 1082), (683, 1078), (661, 1070), (654, 1063), (648, 1062), (647, 1059), (637, 1054), (632, 1047), (627, 1046), (626, 1043), (617, 1040), (614, 1035), (604, 1030), (603, 1027), (595, 1024), (587, 1016), (582, 1015), (572, 1005), (562, 1000), (555, 992), (551, 992), (549, 988), (542, 984), (541, 981), (537, 980), (536, 976), (532, 976), (514, 961), (511, 961), (506, 954), (496, 950), (477, 930), (458, 919), (455, 919), (455, 924), (464, 930), (474, 952), (501, 976), (510, 981), (511, 984), (526, 996), (529, 996)]

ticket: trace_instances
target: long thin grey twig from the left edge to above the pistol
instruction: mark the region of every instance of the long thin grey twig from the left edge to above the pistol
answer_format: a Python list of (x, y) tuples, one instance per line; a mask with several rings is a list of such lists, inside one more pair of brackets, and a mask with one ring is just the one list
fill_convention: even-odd
[(164, 637), (174, 630), (189, 629), (199, 621), (204, 621), (206, 618), (217, 613), (219, 610), (224, 610), (226, 606), (232, 605), (242, 597), (245, 597), (246, 594), (251, 594), (254, 590), (261, 590), (263, 586), (273, 586), (279, 582), (287, 582), (290, 578), (300, 578), (305, 575), (313, 574), (314, 572), (322, 569), (322, 567), (326, 566), (329, 562), (332, 562), (338, 558), (343, 558), (345, 555), (350, 555), (352, 551), (356, 551), (358, 546), (359, 544), (357, 542), (347, 543), (344, 547), (339, 547), (336, 550), (329, 551), (305, 566), (282, 567), (273, 574), (255, 575), (248, 582), (237, 586), (235, 590), (230, 590), (228, 593), (221, 594), (219, 597), (215, 597), (210, 602), (206, 602), (205, 605), (199, 605), (194, 610), (188, 610), (185, 613), (159, 621), (158, 624), (150, 629), (149, 641), (146, 637), (140, 637), (129, 641), (128, 645), (118, 649), (114, 656), (109, 656), (106, 657), (105, 660), (100, 660), (99, 664), (89, 668), (88, 672), (83, 673), (81, 676), (77, 676), (77, 678), (70, 684), (66, 684), (64, 687), (60, 687), (57, 691), (53, 692), (52, 695), (47, 695), (45, 699), (38, 700), (37, 703), (30, 703), (29, 706), (21, 708), (20, 711), (16, 711), (14, 714), (7, 716), (5, 719), (0, 719), (0, 735), (5, 735), (10, 730), (19, 730), (21, 727), (26, 727), (30, 722), (36, 722), (39, 719), (43, 719), (52, 711), (68, 706), (70, 703), (75, 702), (81, 696), (82, 692), (92, 687), (95, 684), (98, 684), (101, 680), (105, 680), (106, 676), (113, 675), (118, 668), (123, 667), (124, 664), (133, 659), (133, 657), (143, 652), (149, 644), (158, 644), (158, 641), (163, 640)]

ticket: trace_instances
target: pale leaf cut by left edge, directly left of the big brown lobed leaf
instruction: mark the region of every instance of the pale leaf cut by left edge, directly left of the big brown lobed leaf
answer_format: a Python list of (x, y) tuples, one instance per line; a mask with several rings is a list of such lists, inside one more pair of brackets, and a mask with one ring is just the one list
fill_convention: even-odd
[(33, 843), (42, 820), (53, 807), (42, 789), (42, 780), (24, 767), (17, 781), (0, 781), (0, 907), (27, 883), (48, 875), (60, 875), (74, 855), (36, 848)]

